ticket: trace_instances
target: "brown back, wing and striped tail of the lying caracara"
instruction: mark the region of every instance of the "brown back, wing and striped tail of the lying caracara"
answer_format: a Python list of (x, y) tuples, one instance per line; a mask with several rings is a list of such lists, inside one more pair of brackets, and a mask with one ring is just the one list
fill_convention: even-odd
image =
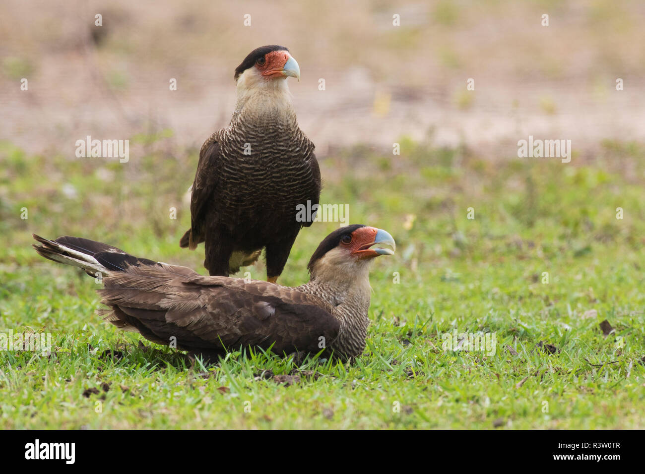
[[(317, 352), (339, 322), (326, 303), (294, 288), (228, 277), (204, 277), (183, 266), (140, 259), (100, 242), (62, 237), (41, 242), (46, 258), (104, 274), (99, 290), (106, 321), (137, 330), (146, 339), (177, 348), (224, 351), (273, 346), (276, 353)], [(84, 259), (86, 257), (89, 263)], [(94, 262), (92, 262), (94, 260)], [(87, 270), (86, 270), (87, 271)]]

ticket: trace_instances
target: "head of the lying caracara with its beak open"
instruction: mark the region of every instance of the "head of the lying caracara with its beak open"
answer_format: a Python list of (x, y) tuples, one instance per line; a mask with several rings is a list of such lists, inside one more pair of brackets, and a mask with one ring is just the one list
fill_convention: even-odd
[[(376, 244), (391, 246), (373, 247)], [(362, 224), (341, 227), (324, 238), (307, 265), (312, 279), (337, 279), (344, 275), (355, 278), (368, 271), (370, 262), (379, 255), (394, 255), (396, 244), (392, 235), (382, 229)]]

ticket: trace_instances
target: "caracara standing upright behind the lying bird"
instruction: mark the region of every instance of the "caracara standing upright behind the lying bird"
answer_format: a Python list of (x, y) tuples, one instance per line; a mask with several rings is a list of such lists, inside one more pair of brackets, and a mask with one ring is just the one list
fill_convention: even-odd
[(253, 50), (235, 69), (230, 124), (199, 152), (190, 230), (179, 244), (195, 250), (204, 242), (210, 275), (235, 273), (266, 248), (266, 276), (275, 282), (298, 232), (312, 224), (297, 220), (297, 206), (318, 204), (321, 173), (298, 127), (287, 77), (300, 80), (287, 48)]

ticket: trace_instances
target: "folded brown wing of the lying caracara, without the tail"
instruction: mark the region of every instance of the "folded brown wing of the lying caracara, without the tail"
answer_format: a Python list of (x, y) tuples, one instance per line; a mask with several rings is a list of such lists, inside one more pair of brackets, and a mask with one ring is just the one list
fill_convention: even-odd
[[(142, 274), (148, 271), (137, 269)], [(112, 273), (99, 292), (104, 304), (137, 319), (163, 344), (174, 336), (177, 347), (188, 350), (273, 345), (276, 353), (317, 351), (319, 337), (333, 341), (339, 330), (329, 310), (292, 289), (272, 285), (283, 291), (267, 294), (261, 289), (270, 285), (266, 282), (225, 277), (159, 279), (156, 275), (150, 275), (152, 282), (142, 282), (141, 276)]]

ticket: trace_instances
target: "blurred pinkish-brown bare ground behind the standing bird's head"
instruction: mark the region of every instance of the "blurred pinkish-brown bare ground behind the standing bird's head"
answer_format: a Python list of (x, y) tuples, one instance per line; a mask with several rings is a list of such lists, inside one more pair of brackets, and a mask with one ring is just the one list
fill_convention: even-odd
[(584, 155), (645, 135), (644, 25), (640, 1), (5, 0), (0, 139), (74, 157), (86, 135), (170, 128), (198, 148), (230, 119), (235, 66), (277, 43), (300, 64), (290, 88), (320, 157), (402, 137), (513, 156), (528, 135)]

